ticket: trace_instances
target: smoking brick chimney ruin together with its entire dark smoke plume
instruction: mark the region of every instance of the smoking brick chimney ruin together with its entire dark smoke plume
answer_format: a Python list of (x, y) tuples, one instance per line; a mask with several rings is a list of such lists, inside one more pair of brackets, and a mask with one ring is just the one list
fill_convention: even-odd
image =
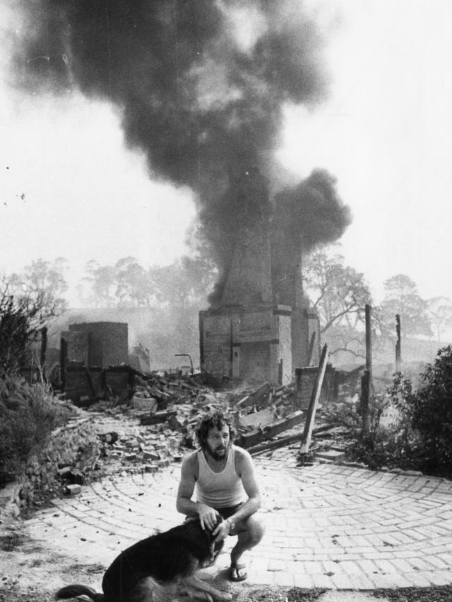
[(12, 35), (18, 85), (115, 104), (150, 177), (193, 190), (219, 273), (200, 315), (203, 366), (286, 382), (315, 361), (301, 256), (337, 240), (350, 215), (328, 172), (289, 185), (275, 163), (284, 107), (312, 108), (328, 92), (307, 5), (20, 0)]

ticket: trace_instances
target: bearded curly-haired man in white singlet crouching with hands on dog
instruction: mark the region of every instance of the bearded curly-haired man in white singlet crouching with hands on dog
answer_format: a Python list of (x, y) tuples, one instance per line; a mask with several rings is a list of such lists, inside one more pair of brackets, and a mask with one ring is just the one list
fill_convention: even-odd
[[(221, 412), (204, 416), (196, 436), (200, 448), (182, 462), (177, 510), (187, 516), (199, 516), (202, 528), (213, 530), (216, 542), (228, 535), (237, 536), (231, 551), (229, 578), (243, 581), (247, 573), (241, 556), (259, 544), (264, 535), (264, 526), (256, 514), (261, 495), (255, 466), (250, 454), (232, 443), (234, 432)], [(193, 492), (196, 501), (191, 499)]]

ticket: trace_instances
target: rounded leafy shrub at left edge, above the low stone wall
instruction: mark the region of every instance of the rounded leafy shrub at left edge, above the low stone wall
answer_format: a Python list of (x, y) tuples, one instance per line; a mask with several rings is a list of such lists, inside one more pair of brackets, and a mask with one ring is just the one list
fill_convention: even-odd
[(45, 383), (27, 384), (17, 377), (0, 379), (0, 480), (20, 473), (32, 453), (68, 418)]

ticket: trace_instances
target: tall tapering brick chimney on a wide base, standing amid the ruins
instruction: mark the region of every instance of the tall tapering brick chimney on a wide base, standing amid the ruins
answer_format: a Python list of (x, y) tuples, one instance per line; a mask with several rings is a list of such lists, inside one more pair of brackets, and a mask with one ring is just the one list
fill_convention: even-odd
[(200, 312), (201, 367), (220, 378), (287, 384), (307, 365), (318, 324), (309, 320), (301, 259), (285, 265), (271, 249), (268, 188), (259, 171), (242, 172), (235, 193), (238, 225), (220, 303)]

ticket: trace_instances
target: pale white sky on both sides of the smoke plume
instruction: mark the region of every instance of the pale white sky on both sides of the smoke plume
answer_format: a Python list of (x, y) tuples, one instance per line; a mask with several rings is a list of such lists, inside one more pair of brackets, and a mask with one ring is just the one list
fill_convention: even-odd
[[(376, 302), (397, 273), (423, 298), (452, 298), (452, 2), (310, 3), (341, 13), (332, 95), (311, 113), (287, 108), (278, 157), (301, 177), (337, 176), (353, 212), (341, 252)], [(186, 251), (194, 215), (189, 190), (152, 183), (125, 149), (111, 106), (26, 98), (0, 81), (0, 271), (65, 257), (76, 281), (90, 259), (164, 265)]]

